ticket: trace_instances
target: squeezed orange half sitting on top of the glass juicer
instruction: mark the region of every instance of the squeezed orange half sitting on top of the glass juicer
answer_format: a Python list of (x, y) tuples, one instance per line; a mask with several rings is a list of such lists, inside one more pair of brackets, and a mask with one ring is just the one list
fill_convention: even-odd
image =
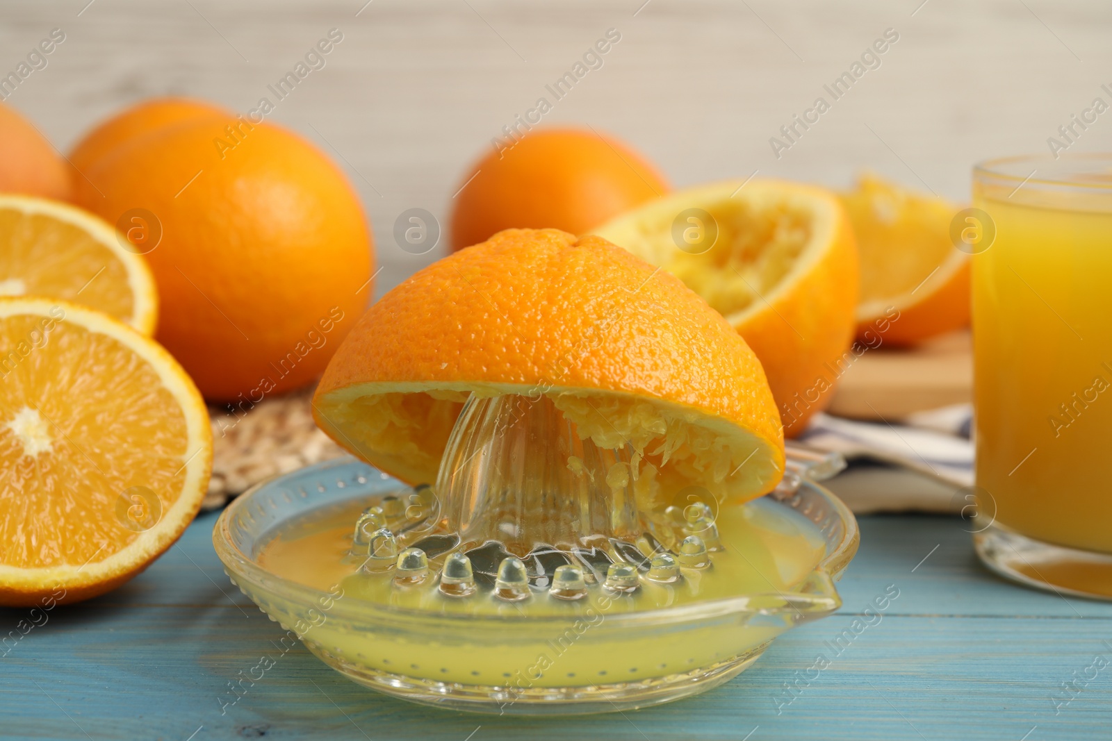
[(692, 484), (745, 501), (783, 474), (780, 417), (745, 341), (597, 237), (508, 229), (417, 272), (336, 351), (314, 415), (374, 465), (431, 483), (470, 393), (543, 394), (582, 439), (629, 444), (649, 507)]

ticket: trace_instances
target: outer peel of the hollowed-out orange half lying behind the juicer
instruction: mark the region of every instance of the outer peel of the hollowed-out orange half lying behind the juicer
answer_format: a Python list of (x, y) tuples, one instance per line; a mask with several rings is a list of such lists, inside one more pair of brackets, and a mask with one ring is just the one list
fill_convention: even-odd
[(762, 302), (758, 313), (737, 324), (768, 374), (788, 438), (831, 403), (837, 361), (856, 329), (857, 244), (848, 218), (841, 209), (838, 213), (833, 246), (817, 264), (771, 306)]

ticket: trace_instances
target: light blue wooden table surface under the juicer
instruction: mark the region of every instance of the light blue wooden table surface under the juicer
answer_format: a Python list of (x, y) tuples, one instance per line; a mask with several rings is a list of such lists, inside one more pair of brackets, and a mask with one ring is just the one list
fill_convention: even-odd
[[(282, 653), (281, 629), (224, 574), (215, 522), (198, 518), (138, 579), (37, 615), (40, 624), (9, 640), (0, 737), (1112, 738), (1112, 604), (997, 580), (957, 518), (862, 518), (843, 610), (788, 632), (719, 689), (637, 712), (542, 720), (409, 704), (348, 681), (300, 644)], [(896, 590), (887, 610), (865, 613)], [(0, 611), (0, 637), (28, 612)], [(865, 622), (853, 630), (854, 620)], [(264, 655), (275, 665), (232, 704), (230, 683)]]

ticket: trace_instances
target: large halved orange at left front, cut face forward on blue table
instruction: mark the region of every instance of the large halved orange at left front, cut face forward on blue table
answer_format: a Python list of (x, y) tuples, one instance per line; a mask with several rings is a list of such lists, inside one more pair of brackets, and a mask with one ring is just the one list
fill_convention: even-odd
[(200, 508), (212, 433), (155, 341), (97, 311), (0, 299), (0, 604), (96, 597)]

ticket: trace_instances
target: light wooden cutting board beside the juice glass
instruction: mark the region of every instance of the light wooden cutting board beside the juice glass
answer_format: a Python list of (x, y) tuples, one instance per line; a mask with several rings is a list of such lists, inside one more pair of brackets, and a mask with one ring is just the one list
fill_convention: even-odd
[(961, 330), (907, 350), (865, 351), (842, 374), (826, 411), (896, 420), (972, 398), (972, 341), (969, 330)]

